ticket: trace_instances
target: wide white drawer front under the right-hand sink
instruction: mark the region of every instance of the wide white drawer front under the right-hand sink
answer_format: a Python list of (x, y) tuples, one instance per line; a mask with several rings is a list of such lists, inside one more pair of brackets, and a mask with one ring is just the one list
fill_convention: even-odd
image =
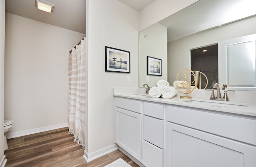
[(256, 120), (167, 106), (167, 121), (256, 145)]

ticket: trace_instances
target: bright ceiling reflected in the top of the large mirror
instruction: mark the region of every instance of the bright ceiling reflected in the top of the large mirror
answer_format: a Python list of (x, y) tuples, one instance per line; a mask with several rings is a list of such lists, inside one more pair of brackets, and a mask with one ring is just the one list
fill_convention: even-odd
[(255, 0), (199, 0), (159, 23), (167, 27), (169, 43), (206, 29), (256, 16), (255, 5)]

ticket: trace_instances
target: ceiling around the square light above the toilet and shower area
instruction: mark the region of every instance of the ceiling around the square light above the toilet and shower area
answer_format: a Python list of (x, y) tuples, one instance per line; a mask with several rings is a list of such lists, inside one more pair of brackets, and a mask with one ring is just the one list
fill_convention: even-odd
[(6, 12), (85, 34), (85, 0), (45, 0), (53, 13), (38, 10), (34, 0), (5, 0)]

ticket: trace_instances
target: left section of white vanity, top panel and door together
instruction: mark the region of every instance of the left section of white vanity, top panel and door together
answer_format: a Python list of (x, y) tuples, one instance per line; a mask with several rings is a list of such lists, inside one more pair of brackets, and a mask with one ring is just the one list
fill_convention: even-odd
[(115, 142), (141, 161), (141, 102), (115, 98)]

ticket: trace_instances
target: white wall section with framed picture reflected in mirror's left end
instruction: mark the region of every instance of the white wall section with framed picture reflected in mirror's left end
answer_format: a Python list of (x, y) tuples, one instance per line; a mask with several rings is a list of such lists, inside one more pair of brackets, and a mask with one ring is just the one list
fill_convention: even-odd
[[(156, 86), (160, 79), (167, 80), (167, 28), (156, 23), (140, 31), (139, 86)], [(162, 76), (148, 74), (148, 57), (162, 60)]]

